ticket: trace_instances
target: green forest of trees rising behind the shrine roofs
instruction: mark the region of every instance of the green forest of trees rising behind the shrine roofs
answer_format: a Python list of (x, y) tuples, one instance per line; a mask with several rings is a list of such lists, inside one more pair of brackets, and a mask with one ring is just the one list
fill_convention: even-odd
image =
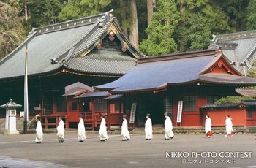
[(32, 28), (110, 9), (148, 56), (206, 49), (213, 34), (256, 29), (256, 0), (0, 0), (0, 58)]

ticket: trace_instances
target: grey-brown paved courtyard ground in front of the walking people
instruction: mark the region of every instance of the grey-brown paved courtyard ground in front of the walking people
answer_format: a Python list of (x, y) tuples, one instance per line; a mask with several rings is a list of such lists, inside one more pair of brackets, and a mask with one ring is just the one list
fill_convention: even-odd
[[(36, 144), (34, 134), (0, 134), (0, 167), (256, 168), (256, 140), (250, 134), (232, 138), (214, 135), (211, 139), (203, 135), (179, 134), (173, 140), (163, 140), (163, 135), (159, 134), (151, 141), (144, 140), (142, 135), (131, 138), (122, 142), (118, 135), (110, 135), (108, 141), (99, 142), (97, 134), (90, 133), (86, 142), (81, 143), (77, 134), (67, 132), (64, 143), (57, 142), (56, 134), (45, 134), (42, 144)], [(234, 158), (231, 153), (239, 156)], [(246, 156), (249, 158), (244, 159)]]

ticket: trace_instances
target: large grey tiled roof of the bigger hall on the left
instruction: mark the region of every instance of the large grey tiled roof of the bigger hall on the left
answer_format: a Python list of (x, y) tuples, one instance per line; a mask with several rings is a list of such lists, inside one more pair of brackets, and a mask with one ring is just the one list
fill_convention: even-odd
[(110, 25), (119, 28), (116, 18), (106, 12), (35, 28), (25, 42), (0, 61), (0, 80), (24, 75), (26, 45), (29, 58), (28, 75), (61, 72), (62, 69), (100, 75), (124, 75), (135, 65), (137, 57), (143, 55), (129, 43), (121, 30), (117, 30), (120, 31), (118, 38), (122, 38), (121, 42), (129, 45), (129, 51), (98, 51), (95, 43), (103, 35), (106, 36)]

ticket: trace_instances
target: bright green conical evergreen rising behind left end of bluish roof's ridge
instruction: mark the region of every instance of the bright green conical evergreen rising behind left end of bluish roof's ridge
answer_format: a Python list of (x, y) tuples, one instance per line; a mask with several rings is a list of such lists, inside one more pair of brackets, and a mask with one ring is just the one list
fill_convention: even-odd
[(151, 25), (146, 28), (148, 39), (140, 43), (140, 51), (148, 56), (176, 53), (173, 32), (179, 20), (180, 13), (174, 0), (157, 1), (157, 11), (152, 16)]

